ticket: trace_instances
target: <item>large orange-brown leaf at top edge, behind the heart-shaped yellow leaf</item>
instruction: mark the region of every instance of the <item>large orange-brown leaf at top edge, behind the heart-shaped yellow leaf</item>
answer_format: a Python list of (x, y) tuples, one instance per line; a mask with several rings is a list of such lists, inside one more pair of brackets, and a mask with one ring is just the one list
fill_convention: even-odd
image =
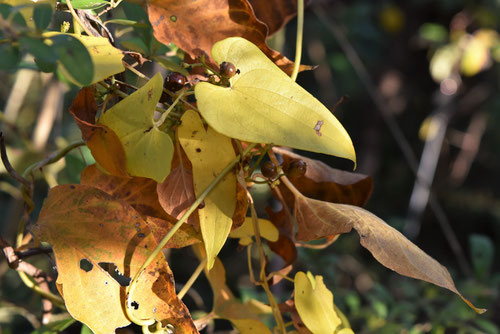
[(240, 36), (257, 45), (283, 71), (292, 72), (293, 62), (267, 46), (267, 26), (255, 17), (247, 0), (150, 0), (148, 13), (155, 37), (164, 44), (174, 43), (193, 59), (205, 53), (213, 57), (210, 50), (215, 42)]

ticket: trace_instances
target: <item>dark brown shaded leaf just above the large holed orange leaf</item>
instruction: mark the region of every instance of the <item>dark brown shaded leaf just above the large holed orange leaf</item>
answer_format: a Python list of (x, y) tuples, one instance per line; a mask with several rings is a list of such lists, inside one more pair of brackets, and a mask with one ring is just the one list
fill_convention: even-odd
[[(98, 188), (113, 199), (124, 200), (130, 204), (150, 225), (157, 242), (161, 241), (177, 221), (160, 206), (156, 194), (158, 184), (152, 179), (108, 175), (96, 165), (92, 165), (83, 170), (80, 183)], [(197, 242), (200, 242), (199, 233), (191, 226), (182, 225), (165, 248), (181, 248)]]

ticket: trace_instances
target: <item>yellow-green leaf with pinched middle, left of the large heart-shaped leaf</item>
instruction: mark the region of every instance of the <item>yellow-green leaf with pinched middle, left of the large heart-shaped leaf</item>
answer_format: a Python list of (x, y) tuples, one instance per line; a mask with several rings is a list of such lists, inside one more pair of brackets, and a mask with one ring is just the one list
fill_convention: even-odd
[(170, 173), (174, 146), (168, 134), (155, 126), (154, 111), (163, 89), (161, 74), (107, 110), (99, 120), (120, 139), (132, 176), (162, 182)]

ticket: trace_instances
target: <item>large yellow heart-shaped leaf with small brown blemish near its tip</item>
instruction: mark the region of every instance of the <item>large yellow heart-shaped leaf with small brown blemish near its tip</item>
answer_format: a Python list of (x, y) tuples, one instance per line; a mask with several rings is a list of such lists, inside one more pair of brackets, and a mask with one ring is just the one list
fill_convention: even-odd
[(356, 161), (351, 139), (335, 116), (257, 46), (231, 37), (215, 43), (212, 57), (240, 71), (230, 79), (231, 87), (207, 82), (195, 87), (198, 109), (216, 131)]

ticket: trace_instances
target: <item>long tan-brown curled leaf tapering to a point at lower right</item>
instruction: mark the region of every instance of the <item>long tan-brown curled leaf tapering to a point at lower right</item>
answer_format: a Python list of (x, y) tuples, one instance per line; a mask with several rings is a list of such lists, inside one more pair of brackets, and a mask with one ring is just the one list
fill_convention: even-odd
[(385, 267), (398, 274), (446, 288), (460, 296), (477, 313), (486, 311), (476, 308), (458, 292), (444, 266), (374, 214), (352, 205), (307, 198), (296, 189), (292, 191), (299, 229), (297, 240), (316, 240), (347, 233), (354, 228), (360, 236), (361, 245)]

